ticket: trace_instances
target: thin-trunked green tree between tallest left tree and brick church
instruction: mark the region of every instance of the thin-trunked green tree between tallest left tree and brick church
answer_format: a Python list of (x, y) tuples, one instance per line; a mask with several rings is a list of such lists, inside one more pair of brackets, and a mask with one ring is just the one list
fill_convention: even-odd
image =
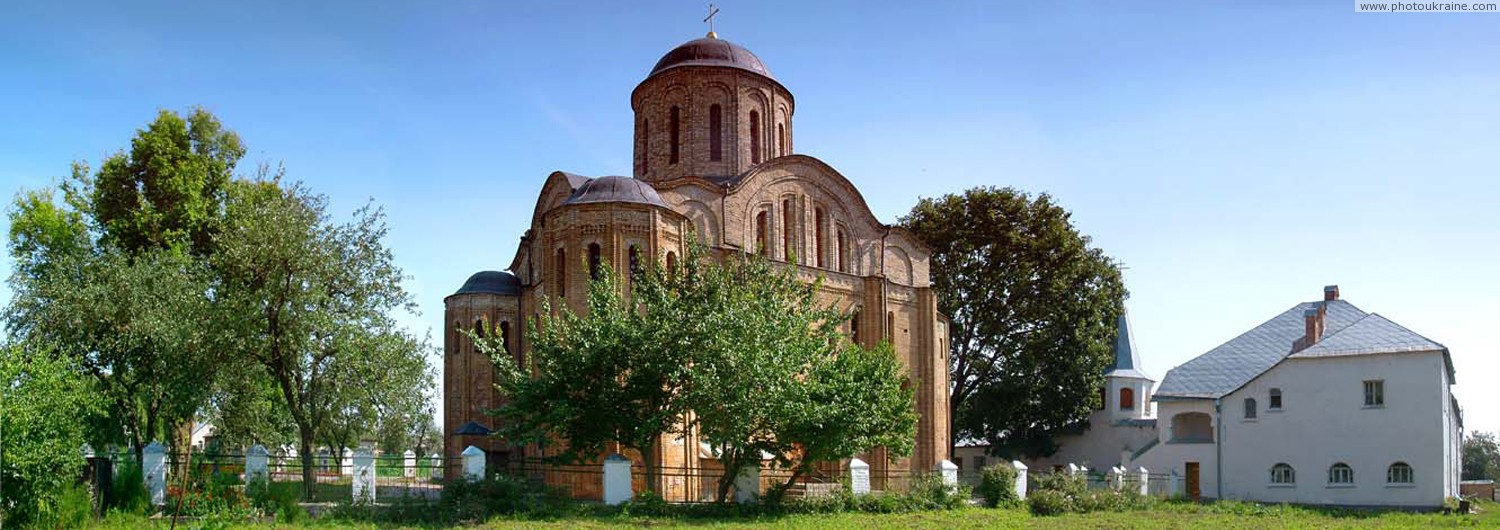
[[(328, 219), (327, 200), (280, 179), (230, 185), (226, 222), (214, 237), (216, 329), (226, 350), (258, 365), (297, 426), (303, 491), (314, 491), (314, 443), (336, 414), (364, 395), (422, 395), (430, 371), (414, 378), (368, 378), (424, 366), (423, 341), (396, 327), (411, 311), (400, 269), (386, 248), (386, 216), (366, 206), (352, 219)], [(400, 383), (394, 384), (392, 381)], [(387, 384), (387, 386), (381, 386)]]

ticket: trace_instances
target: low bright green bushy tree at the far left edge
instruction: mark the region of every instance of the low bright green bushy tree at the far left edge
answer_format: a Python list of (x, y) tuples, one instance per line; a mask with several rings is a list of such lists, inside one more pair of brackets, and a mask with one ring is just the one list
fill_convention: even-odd
[[(46, 518), (82, 470), (88, 380), (38, 344), (0, 345), (0, 525)], [(33, 351), (28, 351), (33, 350)]]

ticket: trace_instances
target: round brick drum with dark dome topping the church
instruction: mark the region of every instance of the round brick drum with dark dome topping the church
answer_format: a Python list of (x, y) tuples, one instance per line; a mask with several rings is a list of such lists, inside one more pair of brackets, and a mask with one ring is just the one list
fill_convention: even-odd
[(792, 93), (712, 32), (672, 48), (630, 95), (634, 177), (730, 177), (792, 153)]

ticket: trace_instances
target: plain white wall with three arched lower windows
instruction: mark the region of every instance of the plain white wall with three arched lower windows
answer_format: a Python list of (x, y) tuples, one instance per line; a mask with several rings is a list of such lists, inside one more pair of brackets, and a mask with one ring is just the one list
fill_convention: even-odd
[[(1310, 504), (1440, 506), (1452, 464), (1448, 384), (1440, 353), (1287, 359), (1224, 398), (1220, 431), (1224, 498)], [(1365, 407), (1364, 381), (1384, 380), (1384, 407)], [(1269, 410), (1280, 387), (1282, 410)], [(1254, 398), (1257, 417), (1244, 417)], [(1386, 483), (1396, 461), (1414, 483)], [(1294, 486), (1272, 486), (1270, 467), (1296, 470)], [(1328, 468), (1346, 462), (1354, 485), (1328, 485)]]

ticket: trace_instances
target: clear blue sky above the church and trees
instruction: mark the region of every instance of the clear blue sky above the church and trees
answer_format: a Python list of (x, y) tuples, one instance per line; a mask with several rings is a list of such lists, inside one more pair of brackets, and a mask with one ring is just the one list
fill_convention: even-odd
[[(1500, 14), (1348, 2), (722, 2), (796, 96), (796, 147), (885, 222), (980, 185), (1054, 195), (1120, 260), (1158, 378), (1340, 284), (1446, 344), (1500, 429)], [(0, 6), (0, 191), (202, 105), (339, 218), (366, 200), (418, 330), (502, 269), (548, 173), (630, 171), (630, 90), (696, 2)], [(3, 222), (3, 221), (0, 221)], [(10, 263), (0, 263), (9, 272)], [(9, 293), (0, 293), (9, 297)]]

